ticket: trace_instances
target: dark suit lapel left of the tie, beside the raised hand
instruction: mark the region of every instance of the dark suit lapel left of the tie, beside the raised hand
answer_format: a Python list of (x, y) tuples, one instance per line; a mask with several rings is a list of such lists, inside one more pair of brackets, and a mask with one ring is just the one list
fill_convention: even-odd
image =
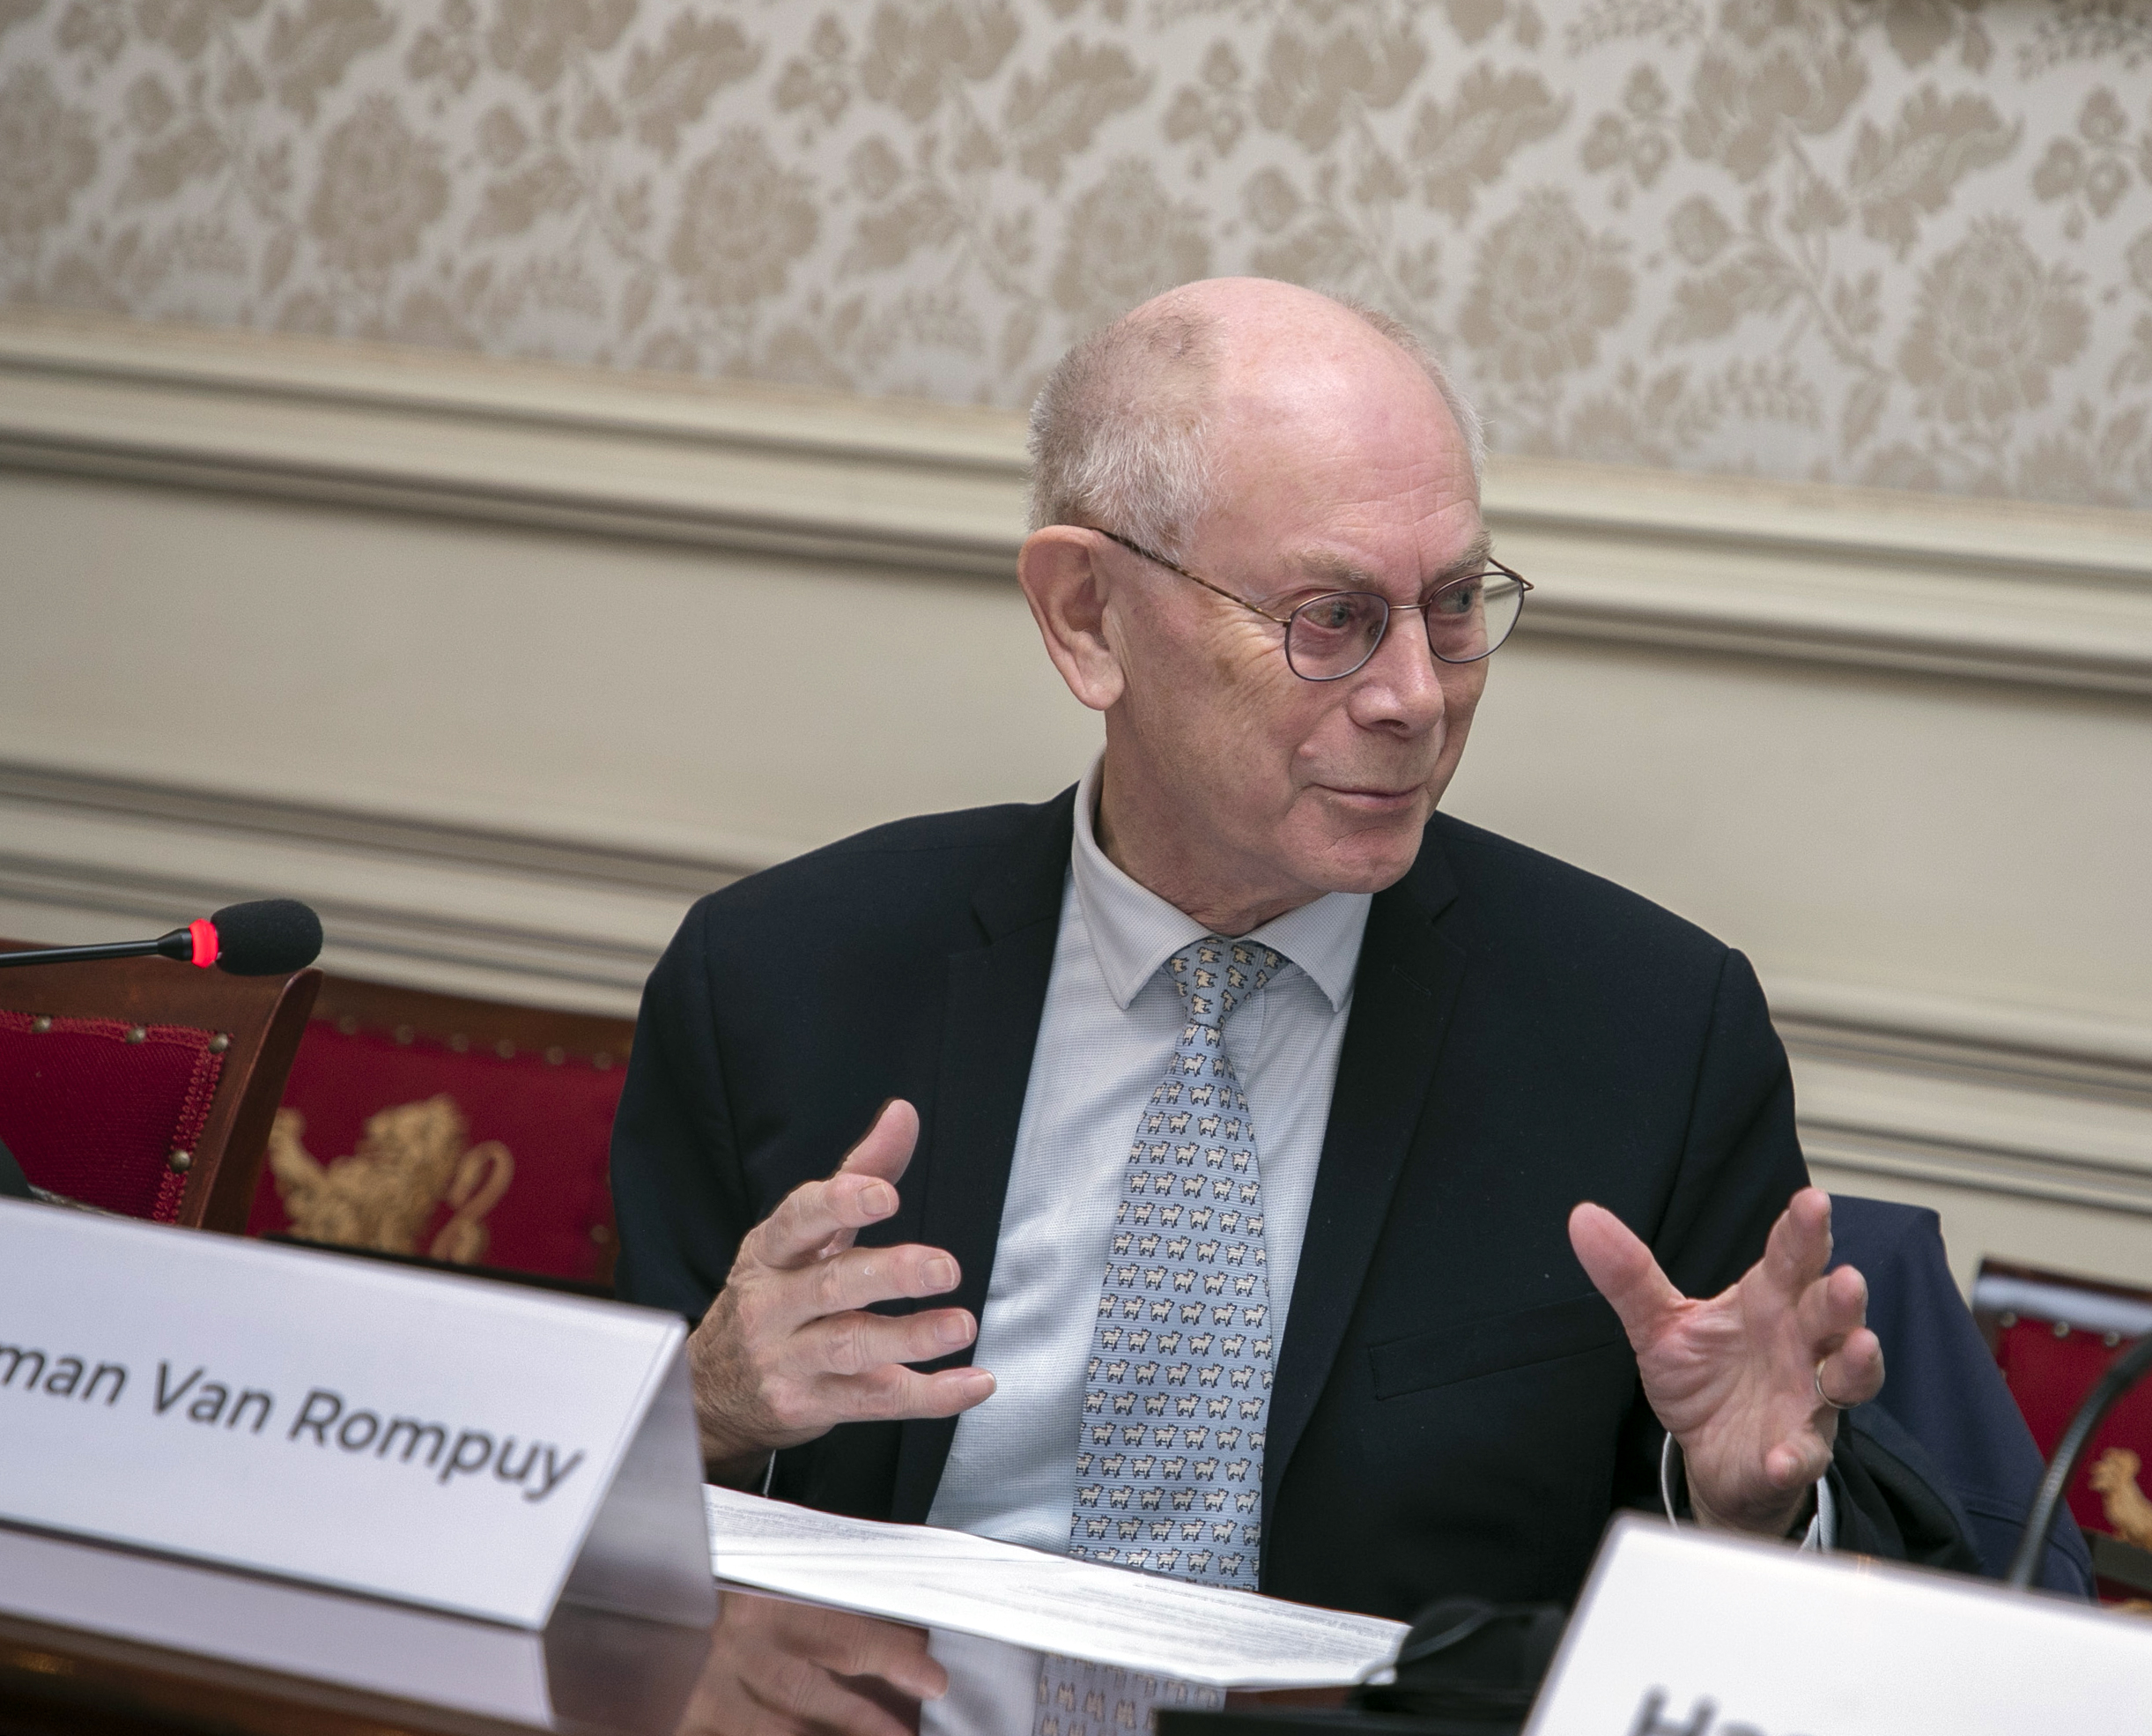
[[(936, 1297), (934, 1305), (968, 1307), (973, 1318), (986, 1318), (1009, 1159), (1061, 933), (1074, 812), (1072, 790), (1046, 806), (1042, 823), (1011, 853), (1007, 872), (973, 896), (983, 943), (951, 952), (947, 963), (940, 1068), (921, 1129), (925, 1165), (912, 1170), (906, 1187), (921, 1191), (919, 1241), (949, 1249), (964, 1273), (955, 1294)], [(925, 1368), (968, 1361), (971, 1348), (964, 1348)], [(912, 1419), (900, 1428), (891, 1518), (925, 1521), (951, 1439), (955, 1417)]]

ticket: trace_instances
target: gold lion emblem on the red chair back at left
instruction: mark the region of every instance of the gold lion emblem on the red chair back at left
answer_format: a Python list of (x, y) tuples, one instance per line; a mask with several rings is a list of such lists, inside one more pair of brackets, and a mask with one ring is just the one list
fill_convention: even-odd
[(445, 1200), (448, 1223), (424, 1249), (473, 1266), (486, 1258), (491, 1213), (516, 1163), (499, 1139), (469, 1146), (469, 1126), (445, 1092), (398, 1103), (366, 1118), (351, 1157), (318, 1163), (301, 1144), (306, 1116), (278, 1109), (269, 1129), (269, 1174), (293, 1234), (383, 1254), (417, 1254), (417, 1238)]

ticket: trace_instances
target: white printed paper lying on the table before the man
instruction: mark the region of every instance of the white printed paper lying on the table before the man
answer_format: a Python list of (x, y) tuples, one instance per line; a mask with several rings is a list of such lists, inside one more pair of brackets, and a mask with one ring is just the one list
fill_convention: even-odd
[(719, 1579), (1220, 1689), (1351, 1682), (1401, 1622), (706, 1488)]

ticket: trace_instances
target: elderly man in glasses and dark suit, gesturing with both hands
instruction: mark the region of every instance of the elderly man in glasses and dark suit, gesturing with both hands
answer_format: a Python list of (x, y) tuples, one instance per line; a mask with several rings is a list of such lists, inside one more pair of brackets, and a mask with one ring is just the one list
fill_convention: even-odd
[(1033, 457), (1091, 773), (732, 885), (650, 980), (620, 1288), (702, 1322), (710, 1473), (1386, 1615), (1569, 1598), (1661, 1478), (1902, 1553), (1747, 961), (1435, 812), (1528, 588), (1440, 366), (1192, 284)]

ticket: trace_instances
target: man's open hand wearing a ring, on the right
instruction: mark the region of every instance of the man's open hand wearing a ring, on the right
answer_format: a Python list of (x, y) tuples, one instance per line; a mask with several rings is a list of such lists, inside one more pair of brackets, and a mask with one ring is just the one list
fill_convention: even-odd
[(1717, 1297), (1683, 1297), (1614, 1213), (1569, 1215), (1569, 1245), (1629, 1333), (1644, 1398), (1681, 1443), (1689, 1506), (1728, 1531), (1784, 1536), (1831, 1462), (1838, 1404), (1883, 1389), (1868, 1282), (1831, 1260), (1831, 1195), (1803, 1187), (1762, 1260)]

